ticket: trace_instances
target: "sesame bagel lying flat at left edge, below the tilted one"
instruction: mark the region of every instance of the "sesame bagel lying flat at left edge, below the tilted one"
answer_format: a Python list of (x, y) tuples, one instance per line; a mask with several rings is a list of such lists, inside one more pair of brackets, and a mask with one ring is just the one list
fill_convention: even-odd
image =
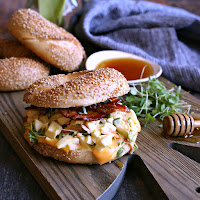
[(35, 59), (0, 59), (0, 91), (25, 90), (37, 79), (48, 75), (49, 68)]

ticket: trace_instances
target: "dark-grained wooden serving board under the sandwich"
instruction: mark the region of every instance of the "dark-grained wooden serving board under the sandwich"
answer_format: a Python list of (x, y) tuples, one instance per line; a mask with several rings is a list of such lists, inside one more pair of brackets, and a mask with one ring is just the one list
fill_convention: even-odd
[[(166, 79), (161, 80), (171, 85)], [(47, 196), (50, 199), (112, 199), (123, 181), (128, 157), (100, 166), (66, 164), (39, 155), (23, 138), (26, 107), (22, 101), (23, 94), (0, 93), (0, 129)], [(200, 109), (200, 100), (190, 94), (184, 92), (183, 99), (192, 105), (195, 112)], [(136, 154), (168, 199), (200, 199), (199, 161), (175, 150), (176, 144), (196, 147), (194, 157), (197, 158), (200, 144), (168, 140), (162, 136), (159, 124), (155, 121), (142, 128)], [(119, 163), (123, 163), (123, 167)]]

